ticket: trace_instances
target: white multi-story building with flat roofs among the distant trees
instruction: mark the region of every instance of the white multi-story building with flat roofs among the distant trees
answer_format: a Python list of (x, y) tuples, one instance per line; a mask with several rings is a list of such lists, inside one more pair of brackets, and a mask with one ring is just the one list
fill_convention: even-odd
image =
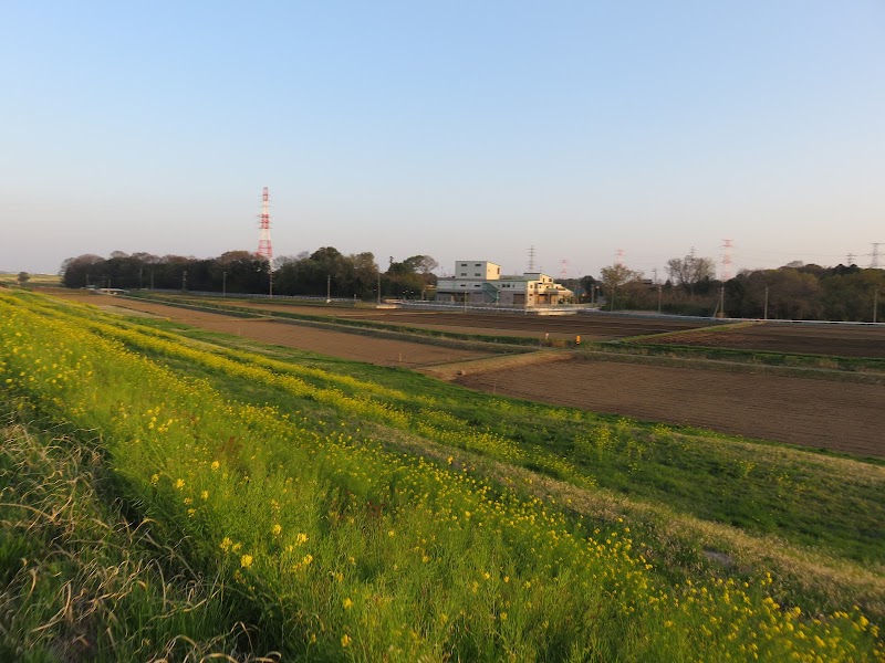
[(546, 274), (502, 276), (500, 265), (482, 260), (459, 260), (455, 276), (444, 276), (436, 284), (438, 302), (531, 307), (561, 304), (571, 296), (572, 291)]

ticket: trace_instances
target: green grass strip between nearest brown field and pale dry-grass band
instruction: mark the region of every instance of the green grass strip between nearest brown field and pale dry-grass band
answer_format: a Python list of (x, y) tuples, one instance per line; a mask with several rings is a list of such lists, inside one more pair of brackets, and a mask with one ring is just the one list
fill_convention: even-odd
[[(159, 322), (150, 325), (167, 326)], [(885, 522), (885, 484), (876, 461), (839, 460), (710, 431), (551, 408), (465, 390), (406, 370), (329, 360), (177, 328), (190, 338), (231, 344), (283, 361), (384, 385), (407, 394), (389, 398), (388, 402), (418, 415), (427, 406), (423, 400), (416, 402), (416, 397), (428, 399), (435, 409), (473, 429), (506, 436), (527, 451), (542, 448), (568, 457), (580, 475), (616, 493), (667, 504), (695, 517), (736, 525), (753, 534), (778, 535), (866, 564), (885, 559), (885, 540), (878, 527)], [(216, 381), (225, 383), (238, 398), (289, 402), (288, 397), (261, 385), (227, 376), (216, 376)]]

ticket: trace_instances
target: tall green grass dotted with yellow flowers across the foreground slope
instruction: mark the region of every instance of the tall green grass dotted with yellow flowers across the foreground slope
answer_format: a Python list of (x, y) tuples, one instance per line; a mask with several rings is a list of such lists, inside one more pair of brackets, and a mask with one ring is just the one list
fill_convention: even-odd
[[(806, 615), (769, 596), (770, 578), (670, 586), (628, 523), (602, 529), (467, 466), (355, 436), (355, 424), (317, 428), (230, 400), (22, 302), (0, 295), (4, 391), (75, 436), (100, 435), (112, 493), (202, 577), (233, 588), (226, 606), (256, 627), (253, 651), (365, 661), (883, 656), (877, 627), (851, 607)], [(208, 352), (187, 361), (235, 370)], [(354, 421), (375, 412), (346, 394), (320, 404), (352, 408)]]

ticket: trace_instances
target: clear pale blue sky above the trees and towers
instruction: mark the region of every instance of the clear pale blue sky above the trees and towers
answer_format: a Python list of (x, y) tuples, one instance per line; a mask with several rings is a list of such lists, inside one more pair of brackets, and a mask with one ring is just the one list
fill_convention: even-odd
[(6, 2), (0, 271), (885, 266), (885, 2)]

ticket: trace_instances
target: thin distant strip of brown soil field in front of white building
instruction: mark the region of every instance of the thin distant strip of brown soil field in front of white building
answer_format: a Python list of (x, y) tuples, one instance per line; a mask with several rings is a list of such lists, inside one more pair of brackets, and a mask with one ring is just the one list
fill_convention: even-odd
[(230, 304), (258, 311), (296, 313), (301, 315), (329, 316), (333, 318), (366, 320), (385, 325), (403, 325), (426, 329), (457, 332), (482, 336), (523, 336), (582, 340), (608, 340), (626, 336), (663, 334), (707, 327), (711, 320), (680, 320), (673, 318), (636, 317), (607, 313), (581, 313), (568, 316), (538, 316), (518, 314), (459, 313), (449, 311), (415, 311), (409, 308), (344, 308), (335, 306), (299, 306), (295, 304), (271, 304), (262, 301), (225, 302), (217, 298), (212, 304)]

